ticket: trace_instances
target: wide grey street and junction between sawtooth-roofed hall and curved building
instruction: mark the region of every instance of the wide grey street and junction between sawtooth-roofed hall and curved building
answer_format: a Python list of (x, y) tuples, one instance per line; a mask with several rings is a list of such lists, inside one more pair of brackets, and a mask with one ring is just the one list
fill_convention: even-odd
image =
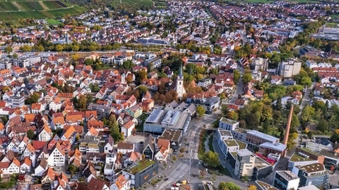
[[(177, 163), (169, 162), (169, 160), (172, 160), (169, 158), (167, 161), (167, 170), (163, 170), (161, 167), (163, 164), (160, 163), (159, 175), (165, 175), (168, 179), (166, 181), (162, 180), (159, 184), (157, 184), (157, 186), (150, 186), (150, 189), (167, 189), (170, 188), (172, 184), (182, 180), (189, 181), (192, 189), (198, 189), (198, 185), (202, 183), (201, 179), (193, 177), (192, 174), (199, 175), (201, 171), (204, 171), (205, 173), (204, 179), (208, 180), (215, 178), (214, 186), (218, 186), (220, 182), (234, 182), (242, 189), (247, 188), (247, 185), (240, 182), (238, 179), (233, 179), (226, 175), (215, 175), (212, 177), (213, 175), (208, 174), (208, 172), (206, 172), (206, 168), (201, 165), (201, 160), (198, 160), (199, 135), (201, 134), (201, 130), (203, 128), (214, 129), (211, 128), (211, 125), (219, 117), (220, 110), (212, 115), (203, 115), (200, 119), (191, 120), (188, 132), (184, 137), (184, 141), (181, 146), (181, 148), (186, 148), (186, 153), (184, 153), (183, 158), (178, 158), (179, 152), (175, 153), (174, 156), (177, 157)], [(191, 158), (191, 169), (189, 158)]]

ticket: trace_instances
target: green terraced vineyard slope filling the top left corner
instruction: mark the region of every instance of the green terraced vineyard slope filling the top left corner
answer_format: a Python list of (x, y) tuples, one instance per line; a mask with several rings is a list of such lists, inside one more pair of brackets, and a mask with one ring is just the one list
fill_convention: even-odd
[(0, 20), (20, 18), (53, 18), (62, 15), (83, 13), (85, 8), (61, 0), (14, 1), (0, 0)]

